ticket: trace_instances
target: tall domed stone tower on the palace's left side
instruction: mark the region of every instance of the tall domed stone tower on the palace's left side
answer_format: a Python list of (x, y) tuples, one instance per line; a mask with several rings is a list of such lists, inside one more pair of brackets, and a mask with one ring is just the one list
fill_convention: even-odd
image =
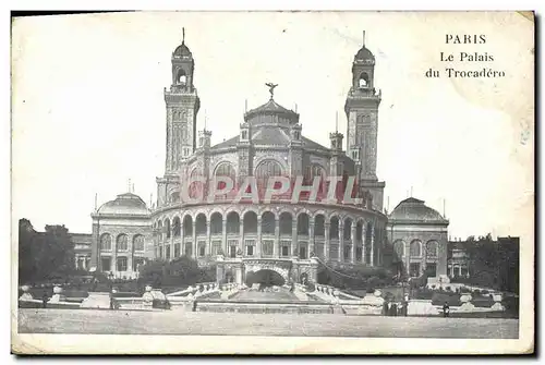
[(180, 162), (196, 149), (196, 123), (201, 100), (193, 84), (195, 61), (185, 46), (185, 29), (182, 44), (172, 52), (172, 84), (165, 88), (167, 106), (167, 158), (166, 173), (175, 173)]

